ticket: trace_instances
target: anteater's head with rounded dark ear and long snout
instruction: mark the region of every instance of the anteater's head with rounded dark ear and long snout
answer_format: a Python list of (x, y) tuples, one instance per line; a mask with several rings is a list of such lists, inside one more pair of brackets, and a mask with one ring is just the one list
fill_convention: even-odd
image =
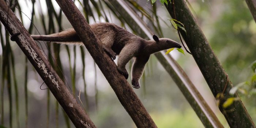
[(181, 48), (181, 45), (178, 44), (176, 41), (173, 41), (172, 39), (168, 39), (168, 38), (158, 38), (156, 35), (153, 35), (153, 39), (155, 40), (155, 42), (161, 46), (161, 47), (165, 47), (165, 49), (169, 49), (169, 48)]

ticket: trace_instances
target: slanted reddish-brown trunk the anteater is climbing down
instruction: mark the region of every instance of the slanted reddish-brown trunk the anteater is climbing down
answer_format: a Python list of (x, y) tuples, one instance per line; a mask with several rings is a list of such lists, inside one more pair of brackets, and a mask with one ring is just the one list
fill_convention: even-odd
[(119, 101), (129, 113), (136, 126), (139, 128), (156, 128), (157, 126), (154, 121), (140, 102), (137, 95), (134, 93), (127, 80), (117, 71), (117, 66), (114, 61), (99, 45), (99, 40), (95, 37), (93, 30), (75, 4), (71, 0), (56, 1), (67, 16), (71, 25), (74, 27), (76, 33), (78, 33), (83, 44), (86, 46), (99, 69), (101, 69), (103, 75), (108, 80)]

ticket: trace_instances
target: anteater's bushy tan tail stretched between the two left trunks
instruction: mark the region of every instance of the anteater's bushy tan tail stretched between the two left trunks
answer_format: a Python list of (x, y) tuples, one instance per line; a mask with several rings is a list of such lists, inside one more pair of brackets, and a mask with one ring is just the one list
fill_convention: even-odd
[(31, 35), (31, 37), (37, 41), (51, 41), (59, 44), (83, 44), (74, 29), (68, 29), (50, 35)]

